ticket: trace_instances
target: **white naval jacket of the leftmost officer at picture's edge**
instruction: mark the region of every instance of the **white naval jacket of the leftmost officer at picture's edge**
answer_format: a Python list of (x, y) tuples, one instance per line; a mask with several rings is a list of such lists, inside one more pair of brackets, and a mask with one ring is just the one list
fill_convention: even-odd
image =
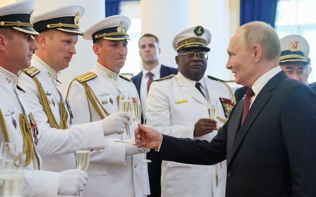
[[(30, 122), (30, 109), (27, 98), (24, 92), (16, 86), (18, 77), (8, 70), (0, 67), (0, 108), (3, 113), (3, 118), (9, 134), (9, 142), (15, 144), (15, 149), (18, 152), (23, 150), (23, 137), (20, 127), (20, 114), (24, 113), (27, 121)], [(13, 114), (9, 114), (10, 111)], [(16, 122), (16, 128), (13, 124), (13, 119)], [(2, 128), (0, 129), (0, 144), (4, 142)], [(28, 132), (31, 132), (28, 130)], [(33, 159), (31, 163), (24, 167), (23, 175), (25, 185), (23, 188), (23, 196), (27, 197), (53, 197), (58, 193), (59, 174), (55, 172), (42, 171), (42, 159), (37, 151), (32, 135), (32, 142), (35, 153), (35, 169)], [(24, 166), (26, 154), (22, 156), (22, 165)], [(22, 167), (23, 168), (23, 167)]]

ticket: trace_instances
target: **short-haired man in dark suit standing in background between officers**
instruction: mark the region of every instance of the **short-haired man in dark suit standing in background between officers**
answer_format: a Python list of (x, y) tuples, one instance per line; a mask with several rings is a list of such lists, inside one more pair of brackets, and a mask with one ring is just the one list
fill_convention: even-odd
[[(153, 80), (167, 77), (171, 74), (177, 74), (178, 69), (172, 67), (166, 67), (159, 61), (159, 39), (153, 34), (144, 34), (138, 41), (139, 56), (142, 58), (143, 70), (134, 76), (132, 81), (134, 82), (140, 101), (142, 104), (142, 123), (146, 111), (146, 98), (149, 91), (150, 84)], [(148, 163), (148, 176), (151, 197), (161, 196), (161, 160), (155, 159), (155, 150), (151, 150), (147, 153), (147, 159), (152, 162)]]

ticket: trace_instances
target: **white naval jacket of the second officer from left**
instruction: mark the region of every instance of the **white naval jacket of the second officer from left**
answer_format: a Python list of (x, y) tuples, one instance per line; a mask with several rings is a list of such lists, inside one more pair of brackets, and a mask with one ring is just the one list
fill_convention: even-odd
[[(65, 102), (60, 90), (59, 82), (56, 80), (56, 71), (49, 67), (39, 57), (33, 55), (31, 66), (40, 72), (35, 77), (40, 81), (50, 101), (52, 113), (60, 124), (59, 102)], [(47, 171), (60, 172), (68, 169), (76, 169), (76, 147), (78, 139), (88, 139), (90, 148), (103, 149), (103, 127), (100, 121), (93, 124), (72, 125), (70, 127), (70, 115), (68, 113), (67, 125), (69, 129), (55, 129), (48, 123), (46, 113), (40, 103), (39, 94), (34, 80), (25, 72), (20, 74), (18, 85), (26, 91), (30, 108), (37, 121), (39, 129), (38, 151), (43, 159), (43, 169)], [(55, 106), (53, 105), (53, 101)]]

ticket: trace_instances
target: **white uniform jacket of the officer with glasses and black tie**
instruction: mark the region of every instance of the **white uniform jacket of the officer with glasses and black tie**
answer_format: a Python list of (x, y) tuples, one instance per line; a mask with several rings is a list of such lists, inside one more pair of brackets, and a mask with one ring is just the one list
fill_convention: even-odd
[[(205, 77), (204, 77), (205, 78)], [(216, 80), (205, 78), (205, 86), (212, 103), (217, 101), (217, 116), (225, 119), (220, 97), (230, 99), (228, 88)], [(187, 100), (176, 104), (175, 101)], [(146, 100), (146, 116), (154, 121), (154, 127), (162, 134), (179, 138), (211, 141), (213, 133), (193, 137), (194, 124), (201, 118), (209, 118), (208, 101), (197, 90), (195, 83), (180, 72), (172, 78), (154, 81)], [(224, 122), (216, 120), (221, 127)], [(176, 155), (175, 155), (176, 157)], [(162, 197), (224, 197), (226, 187), (226, 160), (218, 164), (218, 187), (215, 165), (191, 165), (162, 161)]]

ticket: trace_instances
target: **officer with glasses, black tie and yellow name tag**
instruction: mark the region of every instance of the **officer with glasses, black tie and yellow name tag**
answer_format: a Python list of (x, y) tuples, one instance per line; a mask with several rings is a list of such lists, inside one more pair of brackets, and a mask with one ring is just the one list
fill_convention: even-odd
[[(210, 31), (202, 26), (173, 38), (179, 72), (155, 80), (146, 100), (146, 116), (162, 134), (210, 141), (225, 123), (233, 94), (224, 81), (204, 76), (210, 41)], [(215, 120), (209, 106), (218, 108)], [(226, 171), (226, 160), (209, 166), (162, 161), (161, 196), (225, 196)]]

